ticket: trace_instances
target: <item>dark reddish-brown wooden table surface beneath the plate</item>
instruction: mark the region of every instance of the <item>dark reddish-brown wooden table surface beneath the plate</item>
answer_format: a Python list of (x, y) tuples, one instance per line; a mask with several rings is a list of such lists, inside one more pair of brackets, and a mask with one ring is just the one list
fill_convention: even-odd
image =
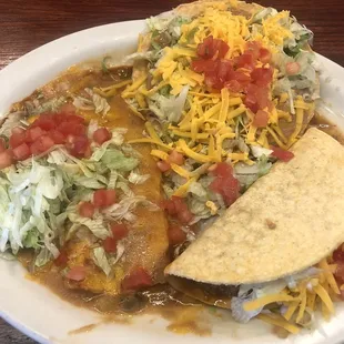
[[(142, 19), (180, 0), (0, 0), (0, 70), (49, 41), (87, 28)], [(274, 3), (275, 2), (275, 3)], [(261, 0), (289, 9), (315, 34), (314, 50), (344, 67), (343, 0)], [(34, 343), (0, 320), (0, 343)]]

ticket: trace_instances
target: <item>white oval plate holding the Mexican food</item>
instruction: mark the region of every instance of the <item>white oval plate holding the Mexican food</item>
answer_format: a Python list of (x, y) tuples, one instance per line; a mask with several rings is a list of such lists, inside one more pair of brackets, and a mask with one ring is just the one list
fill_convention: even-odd
[[(53, 79), (69, 65), (115, 52), (121, 58), (135, 49), (138, 33), (144, 21), (129, 21), (98, 27), (61, 38), (20, 58), (0, 71), (0, 115), (11, 103), (29, 95), (34, 89)], [(333, 112), (328, 115), (344, 129), (342, 102), (344, 99), (344, 69), (318, 57), (323, 64), (322, 94)], [(330, 80), (331, 79), (331, 80)], [(313, 334), (279, 340), (269, 326), (254, 321), (249, 325), (216, 318), (210, 337), (193, 334), (176, 335), (165, 331), (166, 322), (152, 316), (140, 316), (132, 325), (102, 324), (89, 333), (78, 335), (70, 331), (99, 323), (101, 316), (74, 307), (60, 300), (45, 287), (24, 279), (24, 270), (16, 262), (0, 261), (0, 315), (21, 332), (40, 343), (279, 343), (303, 344), (338, 343), (344, 340), (344, 306), (337, 307), (330, 323)], [(324, 336), (326, 334), (326, 336)]]

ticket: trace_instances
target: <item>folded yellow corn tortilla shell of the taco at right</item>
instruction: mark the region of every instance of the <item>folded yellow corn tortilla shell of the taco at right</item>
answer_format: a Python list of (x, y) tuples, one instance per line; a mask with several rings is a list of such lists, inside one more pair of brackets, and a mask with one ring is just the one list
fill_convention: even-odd
[(344, 242), (344, 149), (310, 129), (165, 274), (211, 284), (277, 280), (318, 263)]

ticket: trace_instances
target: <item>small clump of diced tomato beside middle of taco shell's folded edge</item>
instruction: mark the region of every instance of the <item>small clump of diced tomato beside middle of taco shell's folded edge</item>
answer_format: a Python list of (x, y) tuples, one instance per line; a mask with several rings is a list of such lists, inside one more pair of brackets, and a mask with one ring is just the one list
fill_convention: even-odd
[(210, 189), (221, 194), (226, 205), (234, 203), (240, 195), (240, 184), (233, 175), (232, 166), (225, 162), (220, 162), (212, 174), (216, 178), (210, 184)]

